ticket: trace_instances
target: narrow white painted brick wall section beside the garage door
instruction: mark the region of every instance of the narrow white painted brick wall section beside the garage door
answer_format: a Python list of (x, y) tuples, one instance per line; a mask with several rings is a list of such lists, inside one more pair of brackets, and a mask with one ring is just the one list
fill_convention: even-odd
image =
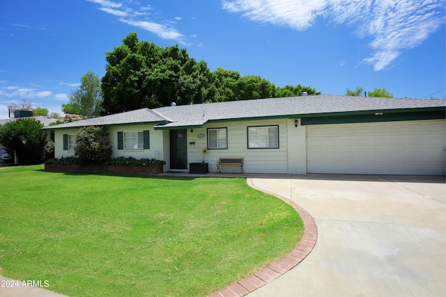
[(288, 160), (289, 174), (307, 174), (307, 129), (300, 125), (295, 127), (295, 119), (289, 119), (288, 124)]

